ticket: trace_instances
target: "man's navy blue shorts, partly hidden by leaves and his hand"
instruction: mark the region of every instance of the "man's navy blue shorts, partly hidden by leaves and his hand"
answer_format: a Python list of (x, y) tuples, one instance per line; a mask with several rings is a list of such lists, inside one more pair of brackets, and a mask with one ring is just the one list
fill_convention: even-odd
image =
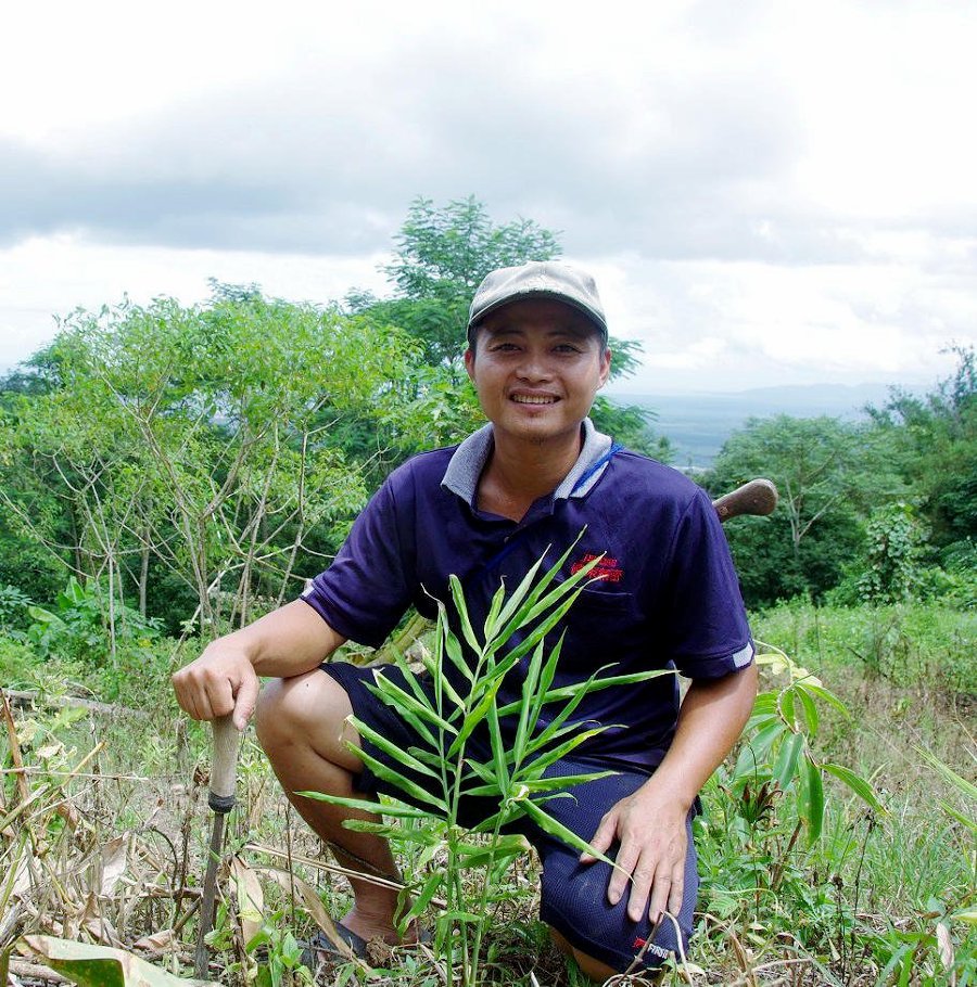
[[(363, 668), (344, 662), (328, 663), (321, 668), (345, 690), (357, 719), (403, 749), (427, 746), (409, 723), (398, 717), (390, 706), (378, 700), (366, 687), (366, 682), (372, 682), (373, 672), (378, 669)], [(396, 666), (384, 665), (382, 671), (388, 679), (398, 684), (403, 683)], [(391, 762), (391, 758), (366, 739), (363, 739), (363, 747), (381, 762)], [(471, 744), (469, 744), (469, 749), (472, 751)], [(475, 748), (472, 753), (475, 757), (487, 759), (487, 751), (477, 752)], [(582, 774), (599, 771), (601, 767), (607, 766), (601, 766), (595, 760), (560, 760), (551, 765), (546, 774)], [(620, 765), (616, 764), (613, 768), (619, 770)], [(413, 780), (418, 783), (422, 779), (423, 776), (413, 776)], [(614, 803), (636, 792), (647, 780), (647, 773), (633, 768), (627, 769), (569, 789), (573, 798), (550, 799), (545, 804), (545, 810), (583, 839), (589, 841), (604, 813)], [(382, 792), (404, 798), (398, 789), (377, 778), (368, 766), (364, 767), (357, 787), (365, 794)], [(462, 812), (459, 821), (464, 825), (470, 826), (474, 821), (491, 816), (497, 808), (497, 804), (495, 804), (496, 808), (493, 808), (492, 805), (493, 800), (487, 798), (472, 798), (470, 804), (464, 807), (467, 811)], [(686, 821), (688, 851), (685, 858), (685, 897), (682, 902), (682, 911), (676, 915), (683, 949), (687, 948), (691, 935), (693, 911), (699, 889), (691, 816), (690, 812)], [(582, 952), (607, 963), (614, 970), (626, 970), (645, 946), (651, 932), (651, 924), (647, 918), (640, 922), (632, 922), (627, 916), (626, 892), (616, 906), (610, 905), (607, 900), (607, 885), (610, 880), (608, 864), (597, 861), (582, 866), (578, 859), (579, 850), (543, 832), (535, 823), (525, 818), (515, 823), (513, 828), (517, 832), (524, 833), (535, 847), (543, 864), (541, 920), (561, 933), (572, 946)], [(651, 944), (645, 949), (643, 961), (646, 966), (658, 966), (668, 956), (677, 952), (677, 949), (675, 925), (665, 918)]]

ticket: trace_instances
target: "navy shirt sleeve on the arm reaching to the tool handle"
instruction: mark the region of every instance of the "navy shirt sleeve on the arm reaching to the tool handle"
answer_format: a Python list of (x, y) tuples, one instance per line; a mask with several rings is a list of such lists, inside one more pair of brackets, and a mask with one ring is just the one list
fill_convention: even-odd
[(353, 524), (332, 565), (302, 599), (344, 638), (379, 648), (407, 610), (415, 571), (404, 473), (396, 471)]

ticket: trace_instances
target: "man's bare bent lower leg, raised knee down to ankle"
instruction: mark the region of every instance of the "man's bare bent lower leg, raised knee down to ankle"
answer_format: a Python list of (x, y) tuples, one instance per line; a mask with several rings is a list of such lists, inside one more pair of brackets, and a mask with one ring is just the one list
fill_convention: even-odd
[[(359, 746), (359, 735), (346, 722), (352, 713), (345, 691), (316, 669), (269, 682), (258, 700), (255, 726), (289, 800), (329, 844), (339, 862), (351, 870), (396, 881), (399, 875), (386, 841), (343, 828), (346, 819), (377, 821), (379, 817), (295, 794), (323, 792), (363, 797), (353, 785), (363, 762), (344, 743)], [(343, 925), (367, 940), (380, 936), (389, 943), (399, 941), (394, 928), (397, 893), (360, 879), (350, 883), (355, 901), (343, 918)]]

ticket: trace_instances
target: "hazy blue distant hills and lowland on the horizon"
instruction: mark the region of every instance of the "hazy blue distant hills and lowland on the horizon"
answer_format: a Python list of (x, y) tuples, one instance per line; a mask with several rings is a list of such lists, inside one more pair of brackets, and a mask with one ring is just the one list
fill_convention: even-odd
[(749, 418), (834, 418), (858, 420), (865, 405), (880, 405), (887, 384), (812, 384), (797, 387), (756, 387), (729, 393), (610, 394), (623, 405), (640, 405), (657, 415), (655, 431), (668, 436), (680, 469), (710, 466), (723, 443)]

